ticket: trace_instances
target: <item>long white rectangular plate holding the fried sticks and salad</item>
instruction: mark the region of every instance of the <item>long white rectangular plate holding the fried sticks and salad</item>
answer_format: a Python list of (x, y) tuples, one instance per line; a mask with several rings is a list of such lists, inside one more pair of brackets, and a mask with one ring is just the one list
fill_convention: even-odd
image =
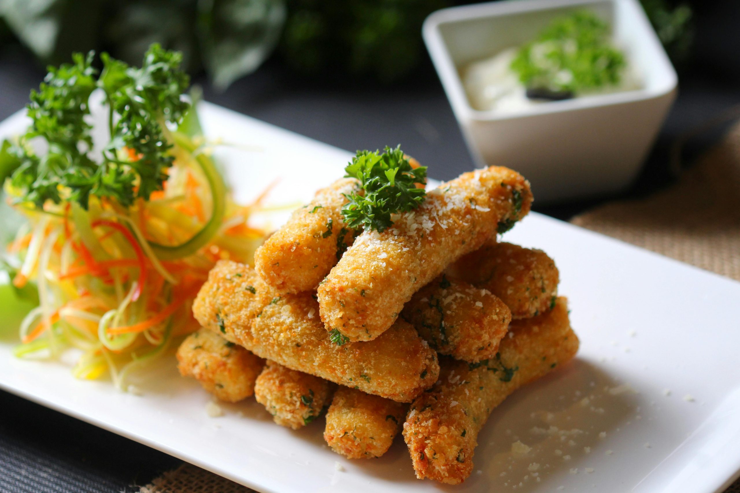
[[(307, 200), (340, 177), (350, 156), (218, 106), (202, 110), (208, 135), (261, 148), (223, 155), (240, 200), (277, 177), (273, 202)], [(13, 116), (0, 124), (0, 137), (23, 125), (22, 115)], [(178, 375), (174, 357), (137, 381), (144, 395), (136, 396), (107, 381), (75, 380), (63, 362), (14, 358), (17, 341), (5, 336), (0, 387), (260, 492), (713, 493), (727, 486), (740, 469), (740, 283), (539, 214), (505, 239), (556, 260), (581, 350), (494, 410), (462, 486), (416, 480), (400, 438), (383, 458), (346, 460), (323, 442), (323, 420), (293, 432), (252, 400), (209, 418), (209, 395)], [(531, 451), (512, 453), (517, 440)]]

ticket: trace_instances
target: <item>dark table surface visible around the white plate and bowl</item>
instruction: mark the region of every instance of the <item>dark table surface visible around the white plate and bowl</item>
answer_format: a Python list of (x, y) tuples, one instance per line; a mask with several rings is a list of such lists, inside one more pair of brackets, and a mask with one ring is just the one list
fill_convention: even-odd
[[(695, 2), (693, 57), (679, 67), (679, 98), (639, 179), (619, 197), (639, 197), (673, 179), (667, 154), (676, 137), (740, 104), (740, 3)], [(18, 47), (0, 48), (0, 119), (27, 102), (44, 72)], [(202, 77), (207, 101), (355, 150), (402, 143), (438, 179), (473, 166), (442, 86), (428, 62), (412, 81), (393, 87), (358, 86), (336, 78), (297, 78), (268, 62), (226, 92)], [(725, 126), (693, 138), (686, 162), (716, 140)], [(616, 197), (537, 208), (568, 220)], [(70, 376), (70, 378), (72, 378)], [(0, 391), (0, 492), (134, 492), (135, 485), (178, 466), (179, 460), (95, 426)]]

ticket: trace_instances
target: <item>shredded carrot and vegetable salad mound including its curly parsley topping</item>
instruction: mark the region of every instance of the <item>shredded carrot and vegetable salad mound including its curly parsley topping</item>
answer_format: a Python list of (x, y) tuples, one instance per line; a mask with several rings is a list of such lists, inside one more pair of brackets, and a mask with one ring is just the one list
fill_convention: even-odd
[[(177, 52), (152, 45), (141, 68), (92, 54), (50, 69), (32, 92), (29, 131), (6, 141), (7, 200), (27, 222), (4, 264), (18, 293), (38, 293), (16, 356), (81, 352), (78, 378), (127, 376), (198, 329), (191, 305), (218, 259), (252, 262), (262, 207), (236, 205), (212, 160)], [(90, 96), (102, 92), (110, 141), (95, 158)], [(34, 290), (33, 287), (36, 287)]]

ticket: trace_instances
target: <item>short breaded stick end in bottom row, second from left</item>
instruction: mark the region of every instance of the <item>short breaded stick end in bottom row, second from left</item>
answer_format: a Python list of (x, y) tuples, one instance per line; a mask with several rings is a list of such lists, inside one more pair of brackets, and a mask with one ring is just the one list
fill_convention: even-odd
[(267, 360), (257, 377), (255, 398), (280, 426), (299, 429), (311, 423), (329, 405), (334, 384)]

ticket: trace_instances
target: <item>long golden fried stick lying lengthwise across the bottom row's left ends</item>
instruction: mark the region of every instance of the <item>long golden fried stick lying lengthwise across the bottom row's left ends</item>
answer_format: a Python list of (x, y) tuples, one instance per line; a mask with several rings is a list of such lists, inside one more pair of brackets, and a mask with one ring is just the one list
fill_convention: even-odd
[(193, 313), (203, 327), (258, 356), (394, 401), (413, 401), (440, 374), (437, 353), (407, 322), (375, 341), (344, 343), (326, 332), (311, 293), (280, 296), (237, 262), (212, 268)]

